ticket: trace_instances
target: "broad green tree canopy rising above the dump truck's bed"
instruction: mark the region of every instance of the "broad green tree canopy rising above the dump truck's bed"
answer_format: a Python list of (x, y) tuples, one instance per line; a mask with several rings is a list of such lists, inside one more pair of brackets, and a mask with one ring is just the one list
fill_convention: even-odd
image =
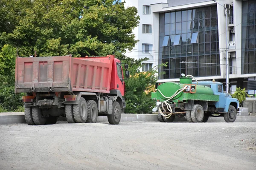
[(118, 0), (3, 0), (0, 15), (0, 46), (12, 44), (21, 57), (118, 56), (137, 43), (137, 8)]

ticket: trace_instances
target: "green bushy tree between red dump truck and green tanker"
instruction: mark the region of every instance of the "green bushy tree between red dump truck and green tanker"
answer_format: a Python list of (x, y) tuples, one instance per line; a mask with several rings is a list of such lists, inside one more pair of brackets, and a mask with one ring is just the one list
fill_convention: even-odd
[(151, 100), (151, 92), (154, 91), (158, 79), (158, 66), (140, 72), (142, 62), (147, 60), (148, 58), (136, 60), (129, 57), (122, 60), (129, 65), (130, 71), (130, 78), (125, 80), (125, 113), (152, 113), (156, 105)]

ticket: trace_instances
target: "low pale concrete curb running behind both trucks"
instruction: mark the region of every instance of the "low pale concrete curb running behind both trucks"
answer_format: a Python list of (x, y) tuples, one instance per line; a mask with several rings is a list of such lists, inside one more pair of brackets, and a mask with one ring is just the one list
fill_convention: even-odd
[[(66, 121), (66, 118), (59, 117), (60, 121)], [(99, 116), (99, 122), (108, 123), (107, 116)], [(120, 122), (159, 122), (157, 114), (122, 114)], [(187, 122), (186, 118), (175, 117), (174, 122)], [(209, 117), (208, 122), (225, 122), (223, 117)], [(237, 116), (236, 122), (256, 122), (256, 116)], [(0, 113), (0, 125), (26, 123), (23, 112)]]

